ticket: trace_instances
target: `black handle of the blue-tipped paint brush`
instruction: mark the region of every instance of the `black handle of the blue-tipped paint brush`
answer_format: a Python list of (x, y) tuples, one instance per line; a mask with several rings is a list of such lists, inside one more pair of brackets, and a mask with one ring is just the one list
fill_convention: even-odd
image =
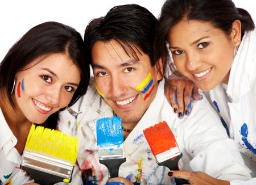
[(114, 177), (118, 176), (119, 167), (125, 161), (126, 161), (126, 158), (121, 158), (121, 159), (104, 159), (104, 160), (100, 160), (100, 163), (102, 163), (102, 165), (105, 165), (108, 168), (109, 174), (110, 174), (110, 178), (114, 178)]

